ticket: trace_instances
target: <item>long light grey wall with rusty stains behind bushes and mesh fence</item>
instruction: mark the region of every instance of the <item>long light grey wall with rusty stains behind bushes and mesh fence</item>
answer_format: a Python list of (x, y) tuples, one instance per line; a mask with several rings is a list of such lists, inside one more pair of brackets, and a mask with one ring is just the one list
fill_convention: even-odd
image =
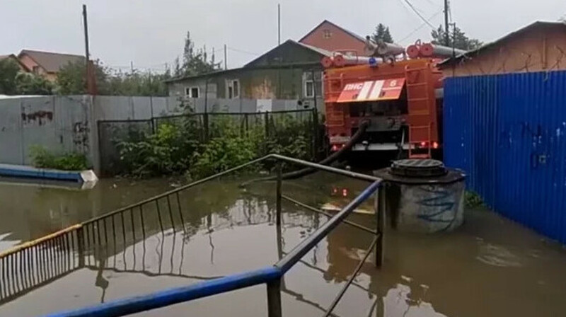
[[(100, 120), (151, 120), (195, 113), (255, 113), (306, 108), (299, 100), (185, 99), (129, 96), (37, 96), (0, 99), (0, 163), (31, 165), (30, 148), (86, 155), (98, 173)], [(260, 107), (258, 107), (258, 104)], [(262, 106), (268, 106), (262, 108)], [(313, 103), (310, 103), (312, 108)], [(319, 108), (323, 105), (319, 100)], [(184, 108), (183, 108), (184, 107)]]

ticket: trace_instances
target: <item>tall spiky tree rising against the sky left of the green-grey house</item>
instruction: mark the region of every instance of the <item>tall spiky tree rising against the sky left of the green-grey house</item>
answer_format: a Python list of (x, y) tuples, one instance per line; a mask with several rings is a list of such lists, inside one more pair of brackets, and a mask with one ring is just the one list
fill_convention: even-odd
[(195, 76), (207, 74), (220, 68), (220, 63), (214, 62), (214, 52), (209, 60), (206, 47), (195, 50), (195, 43), (190, 38), (190, 32), (185, 37), (185, 48), (183, 49), (183, 64), (180, 66), (180, 74), (183, 76)]

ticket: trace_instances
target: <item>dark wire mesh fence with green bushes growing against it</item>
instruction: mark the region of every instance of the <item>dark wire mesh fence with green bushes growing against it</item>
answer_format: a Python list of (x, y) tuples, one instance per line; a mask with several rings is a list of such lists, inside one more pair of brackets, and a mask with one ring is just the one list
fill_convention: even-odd
[(323, 143), (316, 109), (272, 113), (195, 113), (154, 117), (151, 120), (103, 120), (98, 121), (101, 174), (116, 175), (127, 168), (120, 155), (122, 142), (145, 141), (164, 127), (175, 129), (185, 140), (191, 139), (200, 144), (221, 137), (255, 137), (265, 143), (256, 157), (272, 153), (275, 146), (268, 146), (270, 144), (290, 146), (296, 139), (304, 138), (307, 148), (302, 150), (306, 155), (299, 159), (312, 161), (318, 157)]

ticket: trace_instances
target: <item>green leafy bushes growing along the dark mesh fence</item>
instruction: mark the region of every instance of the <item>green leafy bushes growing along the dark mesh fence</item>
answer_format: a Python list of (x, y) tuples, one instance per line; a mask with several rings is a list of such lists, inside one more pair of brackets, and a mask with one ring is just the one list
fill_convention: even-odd
[(204, 115), (175, 118), (159, 123), (155, 134), (141, 140), (117, 142), (127, 175), (185, 173), (198, 179), (270, 153), (312, 159), (312, 125), (308, 120), (279, 115), (270, 120), (266, 137), (263, 114), (250, 115), (247, 129), (243, 115), (208, 115), (208, 135), (204, 133), (203, 118)]

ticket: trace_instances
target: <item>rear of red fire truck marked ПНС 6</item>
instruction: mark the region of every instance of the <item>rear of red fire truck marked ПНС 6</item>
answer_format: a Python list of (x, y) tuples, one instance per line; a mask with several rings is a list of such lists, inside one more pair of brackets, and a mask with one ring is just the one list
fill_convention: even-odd
[(437, 59), (404, 59), (329, 67), (324, 73), (326, 131), (332, 151), (366, 132), (354, 151), (408, 151), (430, 158), (441, 146), (441, 72)]

